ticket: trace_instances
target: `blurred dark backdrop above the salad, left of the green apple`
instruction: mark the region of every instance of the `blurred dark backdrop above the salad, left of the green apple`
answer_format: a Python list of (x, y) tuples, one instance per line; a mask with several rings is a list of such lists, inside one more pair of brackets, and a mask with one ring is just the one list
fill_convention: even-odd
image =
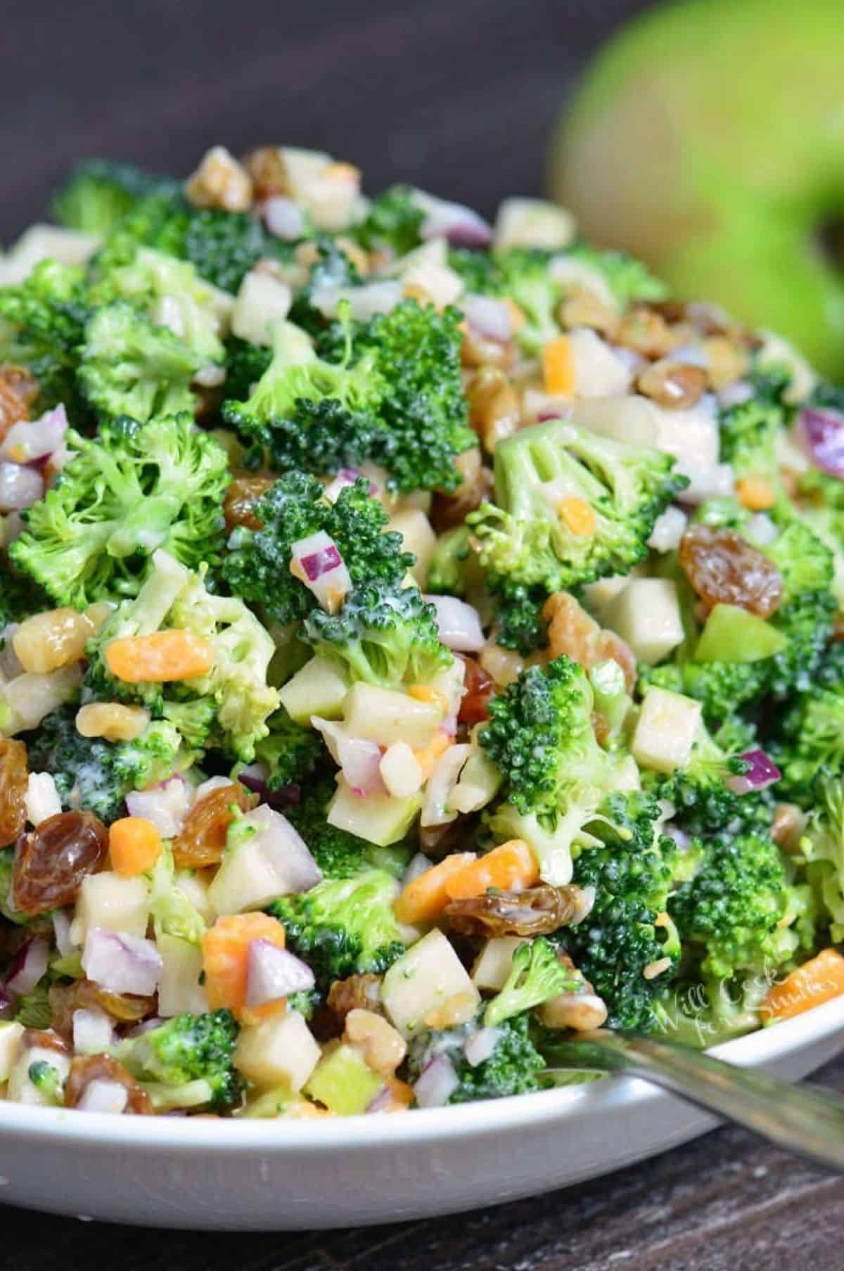
[(536, 193), (563, 94), (637, 0), (4, 0), (0, 241), (74, 158), (188, 173), (214, 141), (325, 149), (379, 189)]

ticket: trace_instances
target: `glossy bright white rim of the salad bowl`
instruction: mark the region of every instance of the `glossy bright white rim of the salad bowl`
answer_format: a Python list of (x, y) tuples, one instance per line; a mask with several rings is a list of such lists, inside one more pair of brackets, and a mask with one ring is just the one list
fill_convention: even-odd
[[(844, 996), (813, 1007), (793, 1019), (746, 1033), (712, 1047), (712, 1054), (740, 1066), (764, 1066), (791, 1051), (841, 1032), (844, 1046)], [(289, 1153), (336, 1152), (375, 1146), (413, 1146), (433, 1139), (472, 1138), (564, 1118), (575, 1110), (581, 1116), (611, 1113), (622, 1106), (643, 1106), (672, 1098), (647, 1082), (610, 1077), (585, 1085), (557, 1087), (529, 1094), (483, 1099), (454, 1107), (421, 1108), (409, 1116), (366, 1115), (311, 1120), (239, 1120), (180, 1116), (114, 1116), (108, 1112), (79, 1112), (67, 1108), (31, 1107), (0, 1101), (0, 1141), (25, 1135), (44, 1144), (86, 1144), (121, 1150), (170, 1149), (192, 1153), (243, 1153), (252, 1150)], [(491, 1106), (494, 1103), (494, 1117)]]

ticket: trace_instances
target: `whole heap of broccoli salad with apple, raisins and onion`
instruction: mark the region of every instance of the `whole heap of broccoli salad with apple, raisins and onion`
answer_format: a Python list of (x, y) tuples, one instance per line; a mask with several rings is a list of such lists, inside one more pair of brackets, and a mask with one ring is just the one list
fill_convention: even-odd
[(52, 217), (0, 258), (0, 1093), (430, 1108), (844, 991), (844, 390), (536, 200), (217, 146)]

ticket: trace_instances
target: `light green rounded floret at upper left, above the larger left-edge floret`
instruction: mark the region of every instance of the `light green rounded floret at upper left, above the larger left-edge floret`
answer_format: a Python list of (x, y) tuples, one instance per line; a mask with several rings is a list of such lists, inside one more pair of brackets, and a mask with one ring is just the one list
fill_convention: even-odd
[(193, 413), (191, 381), (200, 358), (169, 327), (126, 301), (97, 309), (85, 325), (79, 383), (107, 416), (146, 423), (154, 416)]

